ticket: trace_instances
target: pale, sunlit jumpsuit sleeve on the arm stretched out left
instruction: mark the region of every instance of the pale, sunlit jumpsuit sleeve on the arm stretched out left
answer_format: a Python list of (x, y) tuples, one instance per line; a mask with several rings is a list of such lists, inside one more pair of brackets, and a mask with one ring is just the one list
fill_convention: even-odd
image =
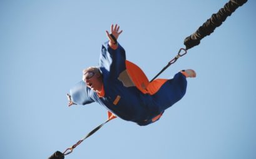
[(70, 89), (71, 100), (75, 104), (79, 105), (86, 105), (95, 102), (92, 98), (93, 94), (94, 91), (88, 88), (83, 80)]

